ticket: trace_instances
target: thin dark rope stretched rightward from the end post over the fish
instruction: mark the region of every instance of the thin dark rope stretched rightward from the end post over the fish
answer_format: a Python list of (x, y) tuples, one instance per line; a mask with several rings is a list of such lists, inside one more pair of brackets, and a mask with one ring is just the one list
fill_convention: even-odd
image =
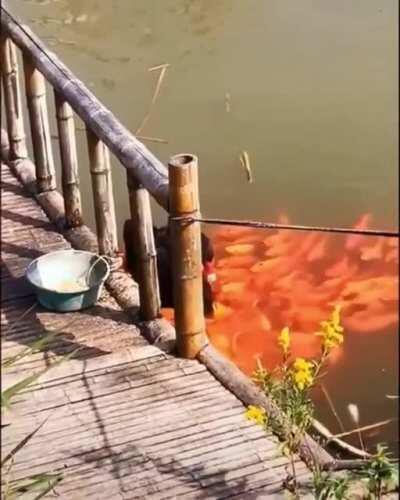
[(287, 229), (293, 231), (319, 231), (323, 233), (360, 234), (364, 236), (384, 236), (386, 238), (399, 238), (400, 234), (394, 231), (375, 229), (356, 229), (344, 227), (299, 226), (292, 224), (275, 224), (273, 222), (260, 222), (253, 220), (206, 219), (202, 217), (170, 217), (176, 222), (203, 222), (204, 224), (220, 224), (226, 226), (253, 227), (256, 229)]

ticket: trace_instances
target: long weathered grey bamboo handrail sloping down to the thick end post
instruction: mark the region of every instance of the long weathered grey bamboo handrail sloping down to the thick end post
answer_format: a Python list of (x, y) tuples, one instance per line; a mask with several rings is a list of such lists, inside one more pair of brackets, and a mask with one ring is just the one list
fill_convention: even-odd
[(4, 7), (1, 7), (1, 28), (24, 54), (31, 57), (46, 80), (122, 165), (132, 171), (137, 181), (168, 210), (168, 171), (160, 160), (120, 124), (26, 25), (19, 23)]

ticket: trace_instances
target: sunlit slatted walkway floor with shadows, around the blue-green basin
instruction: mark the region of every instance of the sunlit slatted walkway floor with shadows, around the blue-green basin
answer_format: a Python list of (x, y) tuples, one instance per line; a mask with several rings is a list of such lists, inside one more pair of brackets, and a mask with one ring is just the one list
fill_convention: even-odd
[[(149, 345), (107, 292), (79, 313), (34, 305), (26, 266), (69, 244), (8, 167), (1, 174), (3, 356), (61, 329), (45, 352), (3, 373), (3, 387), (82, 348), (18, 397), (2, 454), (48, 420), (16, 455), (14, 478), (63, 471), (62, 499), (284, 498), (288, 462), (277, 439), (247, 422), (203, 365)], [(303, 463), (296, 467), (308, 476)]]

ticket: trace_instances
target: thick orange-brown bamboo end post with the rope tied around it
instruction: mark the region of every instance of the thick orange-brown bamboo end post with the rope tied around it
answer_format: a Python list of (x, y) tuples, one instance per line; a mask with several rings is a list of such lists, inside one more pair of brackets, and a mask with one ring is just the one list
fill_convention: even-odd
[(175, 328), (178, 352), (195, 358), (207, 344), (203, 310), (201, 232), (197, 157), (173, 156), (168, 164), (170, 220), (173, 250)]

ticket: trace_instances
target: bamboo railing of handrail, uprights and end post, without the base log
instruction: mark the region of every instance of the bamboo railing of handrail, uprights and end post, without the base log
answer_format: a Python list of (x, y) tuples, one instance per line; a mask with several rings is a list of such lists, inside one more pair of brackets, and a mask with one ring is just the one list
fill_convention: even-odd
[[(23, 59), (35, 169), (32, 183), (36, 193), (47, 193), (51, 198), (56, 190), (46, 100), (46, 90), (52, 87), (64, 207), (60, 210), (50, 203), (50, 210), (62, 213), (62, 221), (59, 216), (57, 221), (66, 228), (83, 225), (74, 126), (76, 113), (86, 127), (98, 252), (106, 256), (114, 268), (120, 262), (110, 167), (112, 153), (127, 170), (130, 215), (135, 227), (133, 246), (141, 263), (139, 276), (135, 277), (139, 285), (141, 318), (156, 320), (160, 317), (161, 305), (149, 195), (167, 211), (171, 205), (173, 215), (199, 215), (197, 159), (191, 155), (174, 157), (168, 175), (166, 167), (119, 123), (57, 56), (2, 7), (1, 76), (10, 161), (28, 159), (16, 48), (20, 49)], [(52, 199), (56, 200), (54, 196)], [(175, 223), (172, 234), (177, 346), (182, 356), (194, 358), (207, 343), (202, 305), (200, 226), (196, 222)]]

